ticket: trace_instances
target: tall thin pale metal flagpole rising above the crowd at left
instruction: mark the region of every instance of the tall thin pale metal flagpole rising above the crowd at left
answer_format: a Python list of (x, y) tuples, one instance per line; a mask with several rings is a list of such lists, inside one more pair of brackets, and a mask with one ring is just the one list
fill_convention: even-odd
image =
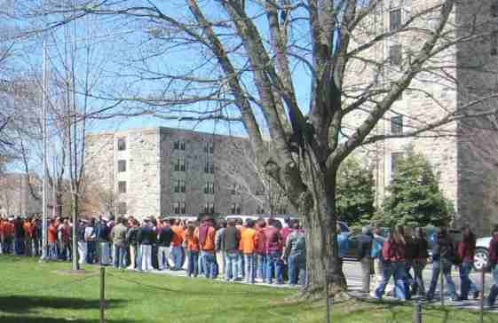
[(43, 223), (42, 223), (42, 260), (48, 259), (47, 242), (47, 43), (43, 41)]

